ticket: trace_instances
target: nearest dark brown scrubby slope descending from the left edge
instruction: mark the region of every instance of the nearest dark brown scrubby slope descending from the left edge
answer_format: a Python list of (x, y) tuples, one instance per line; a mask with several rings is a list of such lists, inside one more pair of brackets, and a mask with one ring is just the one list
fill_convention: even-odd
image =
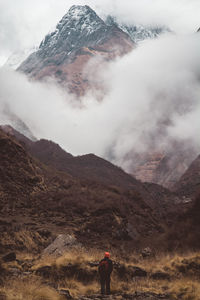
[(71, 232), (88, 246), (94, 242), (101, 246), (106, 239), (105, 247), (111, 243), (118, 247), (122, 241), (124, 245), (138, 241), (139, 247), (163, 231), (161, 220), (137, 191), (58, 172), (35, 160), (2, 130), (0, 145), (0, 222), (4, 224), (0, 238), (4, 232), (10, 235), (26, 228)]

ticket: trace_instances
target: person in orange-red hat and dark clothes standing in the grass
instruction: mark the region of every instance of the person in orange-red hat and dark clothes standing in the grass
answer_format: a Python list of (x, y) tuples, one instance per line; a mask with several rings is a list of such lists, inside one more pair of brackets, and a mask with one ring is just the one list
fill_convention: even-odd
[(104, 258), (99, 262), (99, 276), (101, 283), (101, 294), (110, 294), (110, 276), (113, 270), (113, 263), (110, 259), (110, 253), (105, 252)]

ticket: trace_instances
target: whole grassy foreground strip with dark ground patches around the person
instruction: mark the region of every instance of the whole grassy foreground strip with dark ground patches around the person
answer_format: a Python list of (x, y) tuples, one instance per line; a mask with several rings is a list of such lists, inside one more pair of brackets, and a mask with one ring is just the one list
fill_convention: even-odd
[[(102, 253), (70, 251), (61, 257), (19, 254), (18, 260), (1, 263), (5, 273), (0, 287), (0, 299), (62, 300), (60, 290), (69, 290), (74, 298), (99, 293), (97, 266)], [(137, 255), (115, 262), (111, 290), (113, 294), (153, 292), (168, 294), (170, 299), (200, 299), (200, 253), (157, 255), (142, 258)], [(146, 276), (134, 276), (134, 270)], [(15, 270), (15, 273), (12, 273)], [(12, 272), (11, 272), (12, 271)], [(143, 272), (144, 273), (144, 272)]]

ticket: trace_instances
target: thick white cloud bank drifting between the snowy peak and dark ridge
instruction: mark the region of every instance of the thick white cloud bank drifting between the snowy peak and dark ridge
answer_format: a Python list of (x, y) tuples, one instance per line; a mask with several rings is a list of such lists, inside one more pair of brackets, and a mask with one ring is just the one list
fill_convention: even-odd
[(9, 104), (42, 138), (72, 154), (93, 152), (126, 167), (130, 153), (165, 149), (190, 140), (199, 152), (200, 36), (168, 34), (146, 41), (99, 74), (108, 88), (102, 102), (75, 99), (53, 83), (29, 82), (0, 69), (0, 104)]

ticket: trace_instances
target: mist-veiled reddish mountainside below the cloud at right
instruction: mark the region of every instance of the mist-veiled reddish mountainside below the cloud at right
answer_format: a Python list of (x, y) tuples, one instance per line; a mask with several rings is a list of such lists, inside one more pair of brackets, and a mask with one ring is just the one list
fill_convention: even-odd
[[(150, 151), (135, 155), (131, 173), (142, 182), (160, 184), (172, 188), (186, 172), (197, 150), (186, 142), (173, 141), (171, 149), (161, 152)], [(134, 157), (134, 153), (133, 153)]]

